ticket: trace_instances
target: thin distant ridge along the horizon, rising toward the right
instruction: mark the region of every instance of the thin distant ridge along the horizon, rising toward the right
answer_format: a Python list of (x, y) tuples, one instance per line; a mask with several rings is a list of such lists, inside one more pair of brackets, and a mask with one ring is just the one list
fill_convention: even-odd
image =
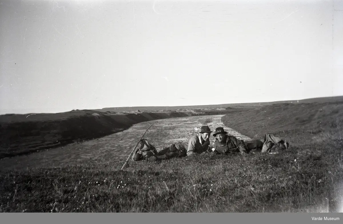
[(227, 104), (212, 104), (212, 105), (193, 105), (193, 106), (161, 106), (161, 107), (107, 107), (103, 109), (94, 109), (93, 111), (113, 111), (113, 112), (124, 112), (124, 111), (159, 111), (159, 110), (178, 110), (178, 109), (199, 109), (199, 108), (239, 108), (239, 107), (254, 107), (254, 106), (263, 106), (268, 104), (277, 104), (277, 103), (328, 103), (328, 102), (343, 102), (343, 96), (334, 96), (334, 97), (319, 97), (319, 98), (308, 98), (302, 100), (284, 100), (284, 101), (272, 101), (272, 102), (256, 102), (256, 103), (227, 103)]

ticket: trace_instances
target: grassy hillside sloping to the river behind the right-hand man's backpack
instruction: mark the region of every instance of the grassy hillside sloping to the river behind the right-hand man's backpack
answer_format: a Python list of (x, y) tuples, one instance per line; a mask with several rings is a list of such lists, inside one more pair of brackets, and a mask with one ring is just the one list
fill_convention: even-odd
[(293, 145), (342, 139), (343, 103), (275, 104), (222, 117), (223, 123), (252, 138), (271, 133)]

